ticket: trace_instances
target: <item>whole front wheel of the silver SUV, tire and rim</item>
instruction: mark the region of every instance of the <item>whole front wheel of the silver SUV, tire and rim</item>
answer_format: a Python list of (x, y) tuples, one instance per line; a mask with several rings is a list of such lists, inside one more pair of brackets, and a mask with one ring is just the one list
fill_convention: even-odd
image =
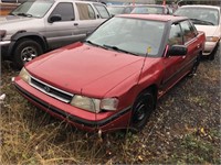
[(13, 63), (17, 68), (22, 68), (27, 62), (32, 61), (36, 56), (43, 54), (41, 45), (29, 38), (18, 41), (13, 51)]

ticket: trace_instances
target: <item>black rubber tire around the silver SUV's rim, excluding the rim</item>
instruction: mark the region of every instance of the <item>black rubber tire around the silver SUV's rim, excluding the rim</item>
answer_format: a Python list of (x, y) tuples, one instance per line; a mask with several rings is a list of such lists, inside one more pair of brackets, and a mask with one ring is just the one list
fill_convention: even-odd
[(22, 68), (23, 65), (24, 65), (24, 63), (21, 58), (21, 52), (25, 47), (33, 47), (38, 53), (38, 56), (43, 53), (43, 50), (38, 42), (35, 42), (33, 40), (21, 40), (21, 41), (19, 41), (15, 44), (15, 48), (13, 51), (13, 63), (14, 63), (17, 68)]

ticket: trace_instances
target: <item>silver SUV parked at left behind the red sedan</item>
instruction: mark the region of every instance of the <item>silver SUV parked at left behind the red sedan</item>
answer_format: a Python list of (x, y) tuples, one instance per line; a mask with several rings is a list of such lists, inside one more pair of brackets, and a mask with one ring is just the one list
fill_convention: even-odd
[(44, 52), (84, 40), (109, 16), (99, 2), (27, 1), (0, 19), (1, 55), (21, 68)]

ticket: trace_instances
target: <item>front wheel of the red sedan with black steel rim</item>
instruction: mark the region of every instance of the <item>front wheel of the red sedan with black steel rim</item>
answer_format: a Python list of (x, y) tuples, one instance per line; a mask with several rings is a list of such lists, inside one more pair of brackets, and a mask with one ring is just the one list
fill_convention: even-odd
[(134, 131), (141, 131), (147, 124), (151, 112), (156, 107), (156, 97), (152, 95), (151, 90), (141, 92), (133, 106), (130, 128)]

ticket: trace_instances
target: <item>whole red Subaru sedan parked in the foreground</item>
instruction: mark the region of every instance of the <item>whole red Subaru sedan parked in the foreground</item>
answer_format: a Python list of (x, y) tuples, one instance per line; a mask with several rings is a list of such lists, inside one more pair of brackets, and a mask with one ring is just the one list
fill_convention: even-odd
[(141, 130), (157, 99), (188, 74), (204, 34), (187, 18), (112, 18), (84, 42), (34, 58), (14, 85), (46, 112), (86, 131)]

